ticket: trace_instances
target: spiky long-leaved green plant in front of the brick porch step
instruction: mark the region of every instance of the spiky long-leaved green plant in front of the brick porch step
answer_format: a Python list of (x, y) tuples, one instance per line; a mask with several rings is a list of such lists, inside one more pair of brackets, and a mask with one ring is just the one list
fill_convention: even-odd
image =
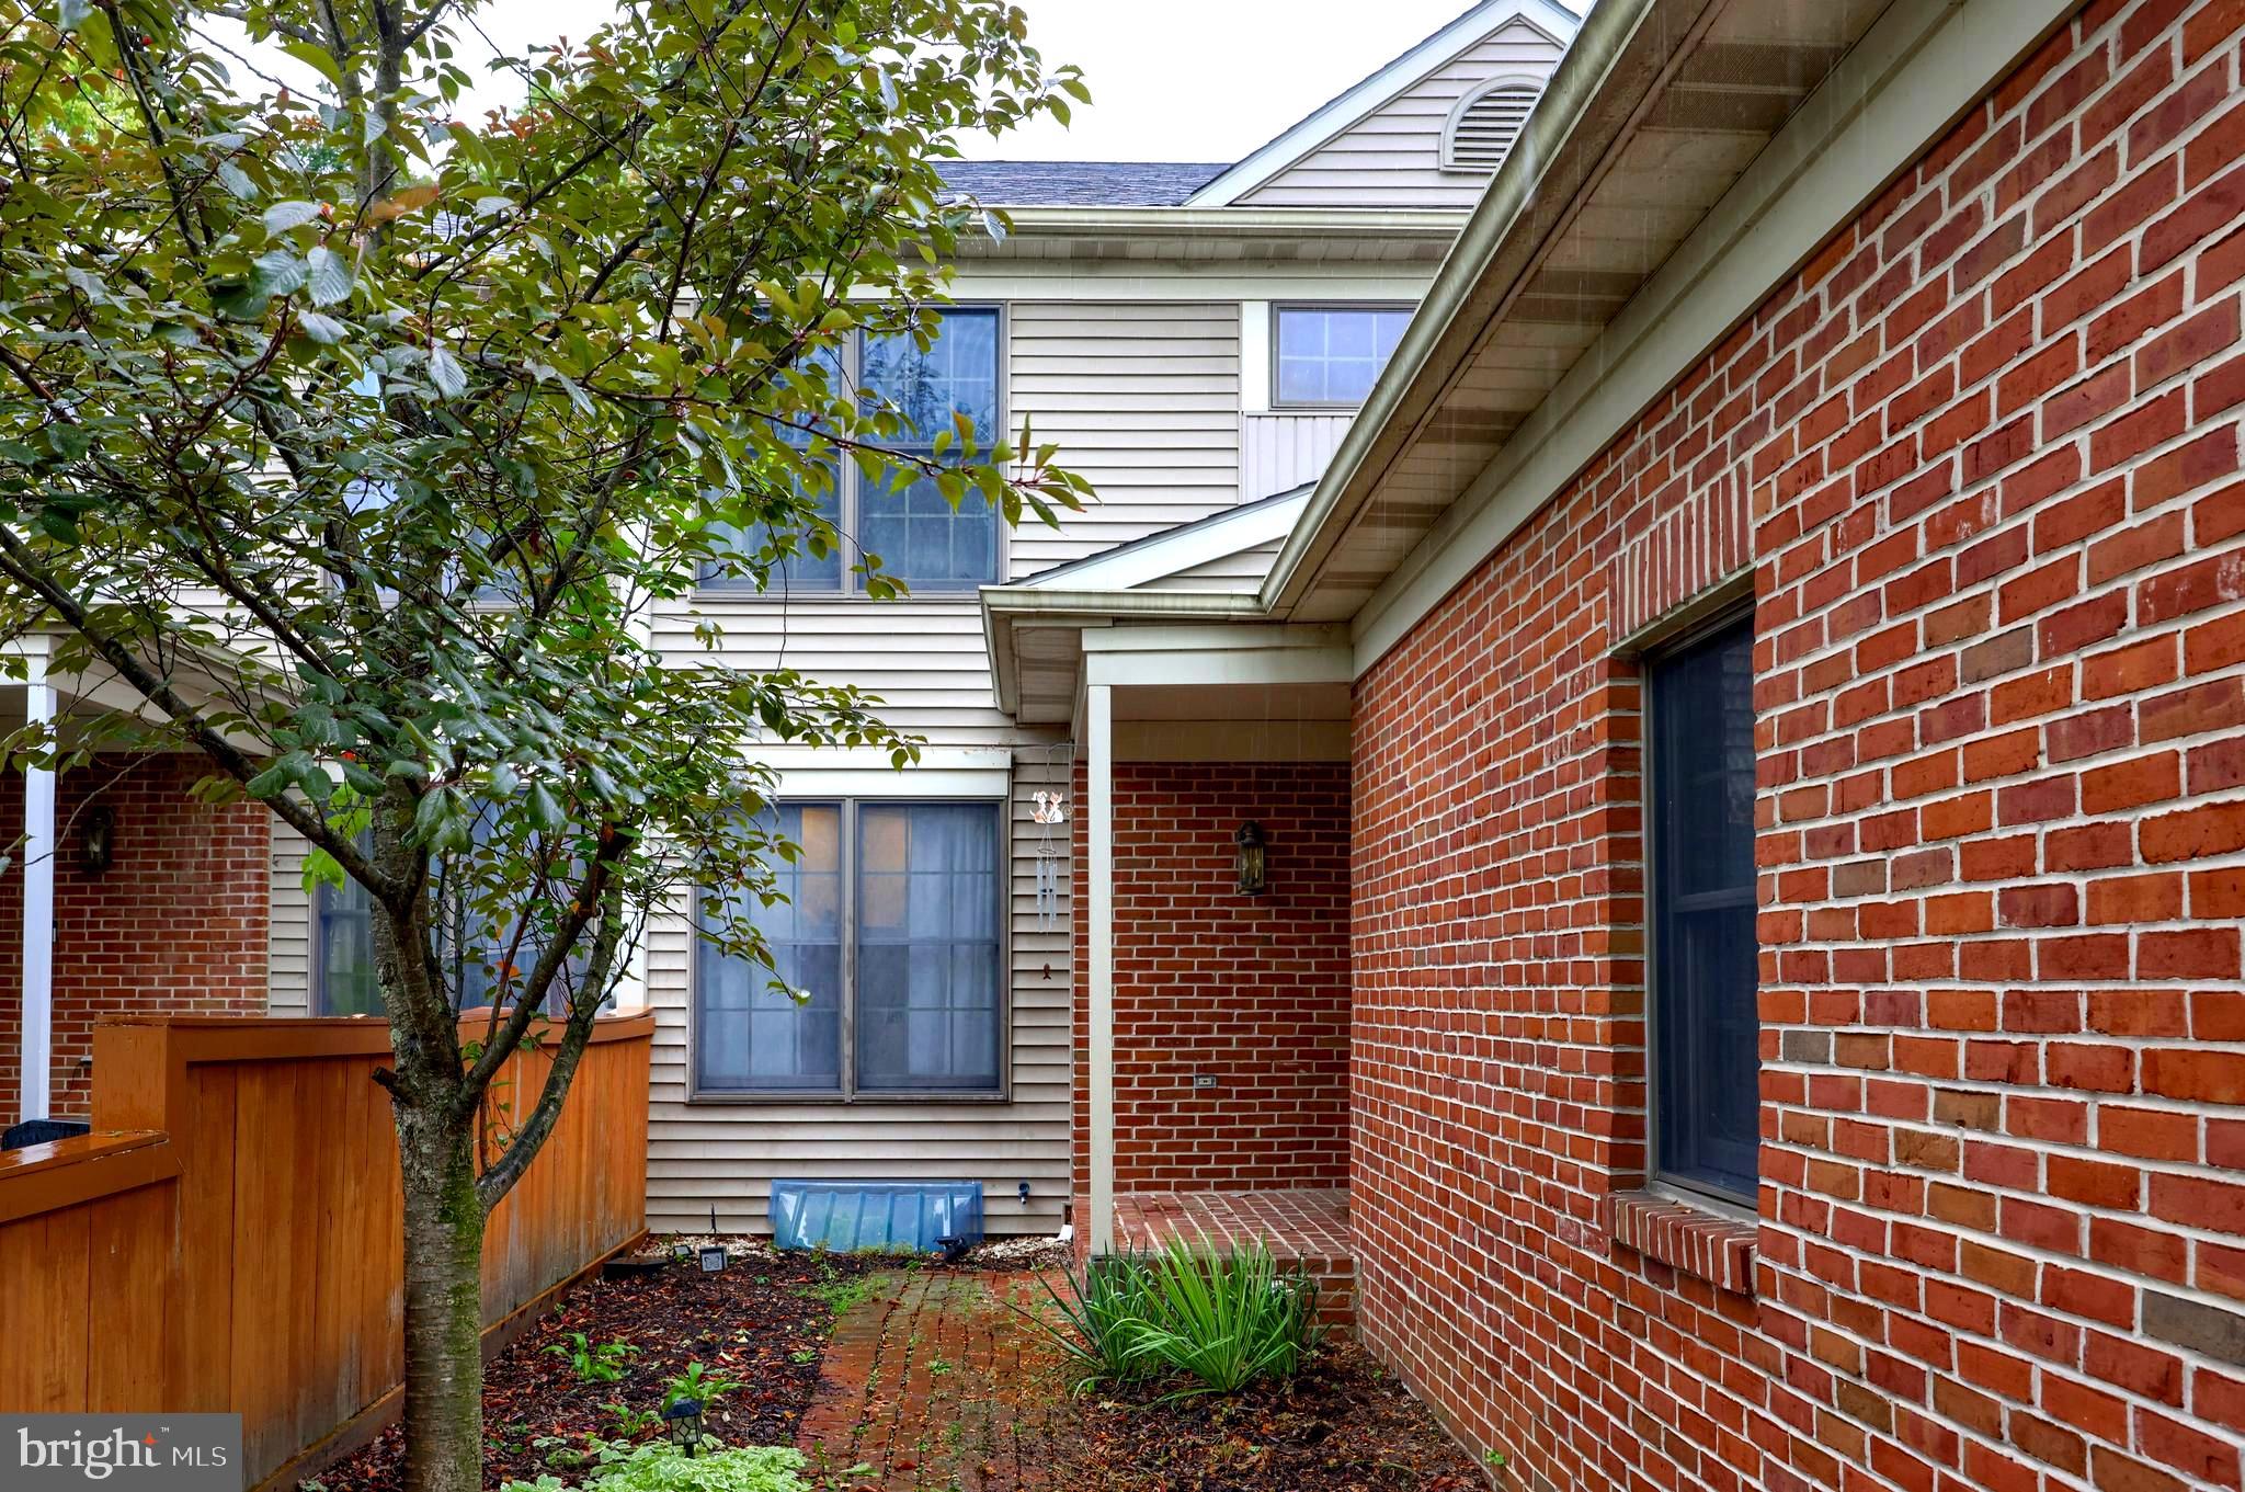
[(1062, 1321), (1030, 1315), (1078, 1369), (1078, 1389), (1165, 1375), (1192, 1382), (1165, 1398), (1237, 1393), (1293, 1378), (1320, 1339), (1318, 1283), (1282, 1270), (1259, 1243), (1230, 1252), (1170, 1241), (1156, 1254), (1096, 1259), (1046, 1290)]

